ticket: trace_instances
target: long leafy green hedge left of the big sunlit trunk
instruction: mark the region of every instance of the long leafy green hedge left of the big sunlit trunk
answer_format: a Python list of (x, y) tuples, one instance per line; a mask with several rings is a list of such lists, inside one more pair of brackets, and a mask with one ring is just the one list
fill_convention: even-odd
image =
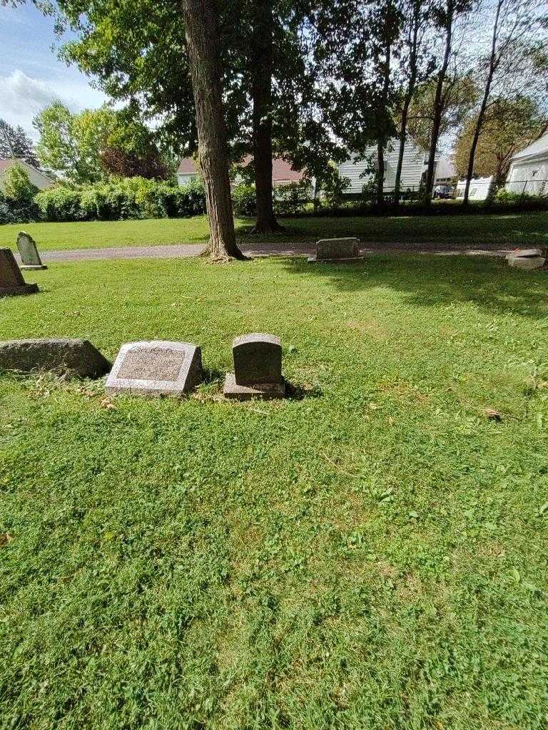
[(205, 213), (199, 180), (182, 187), (142, 177), (82, 187), (61, 183), (38, 193), (35, 201), (47, 221), (185, 218)]

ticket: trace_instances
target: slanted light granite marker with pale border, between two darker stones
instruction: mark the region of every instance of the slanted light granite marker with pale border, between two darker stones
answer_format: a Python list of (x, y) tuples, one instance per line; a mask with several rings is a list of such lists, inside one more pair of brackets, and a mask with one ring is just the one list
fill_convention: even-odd
[(203, 380), (202, 350), (191, 342), (127, 342), (105, 385), (107, 393), (183, 396)]

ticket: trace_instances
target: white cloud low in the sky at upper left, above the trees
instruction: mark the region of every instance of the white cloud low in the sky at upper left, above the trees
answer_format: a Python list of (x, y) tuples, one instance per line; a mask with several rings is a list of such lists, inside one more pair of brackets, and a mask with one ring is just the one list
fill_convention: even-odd
[(85, 101), (85, 106), (88, 107), (97, 107), (104, 99), (100, 92), (91, 89), (85, 82), (77, 87), (73, 84), (67, 86), (63, 83), (42, 81), (15, 69), (9, 76), (0, 76), (0, 118), (14, 126), (20, 124), (31, 137), (36, 137), (32, 120), (54, 99), (62, 101), (72, 112), (84, 108), (75, 100), (72, 92), (77, 94), (78, 99)]

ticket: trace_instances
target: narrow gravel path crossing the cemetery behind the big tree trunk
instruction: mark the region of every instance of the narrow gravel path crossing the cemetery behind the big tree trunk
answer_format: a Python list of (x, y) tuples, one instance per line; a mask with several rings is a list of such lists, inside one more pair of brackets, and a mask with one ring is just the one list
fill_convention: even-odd
[[(112, 248), (76, 248), (64, 251), (44, 251), (40, 255), (46, 263), (48, 261), (89, 261), (93, 259), (110, 258), (192, 258), (199, 256), (205, 250), (205, 244), (172, 244), (160, 246), (119, 246)], [(294, 243), (259, 243), (243, 245), (243, 253), (249, 256), (305, 256), (314, 253), (315, 247), (311, 242)], [(486, 255), (504, 256), (511, 247), (499, 248), (497, 245), (484, 244), (469, 246), (463, 242), (453, 245), (435, 242), (423, 242), (419, 245), (401, 242), (364, 243), (362, 251), (365, 253), (431, 253), (436, 255)], [(19, 260), (18, 254), (16, 258)]]

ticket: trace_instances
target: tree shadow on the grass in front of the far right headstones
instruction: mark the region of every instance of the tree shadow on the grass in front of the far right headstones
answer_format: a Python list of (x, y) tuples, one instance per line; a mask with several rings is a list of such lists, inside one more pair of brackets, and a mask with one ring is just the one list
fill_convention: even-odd
[(287, 272), (321, 277), (342, 293), (387, 288), (416, 307), (472, 302), (487, 312), (530, 319), (548, 315), (548, 269), (511, 269), (483, 256), (370, 255), (363, 264), (308, 264), (284, 258)]

